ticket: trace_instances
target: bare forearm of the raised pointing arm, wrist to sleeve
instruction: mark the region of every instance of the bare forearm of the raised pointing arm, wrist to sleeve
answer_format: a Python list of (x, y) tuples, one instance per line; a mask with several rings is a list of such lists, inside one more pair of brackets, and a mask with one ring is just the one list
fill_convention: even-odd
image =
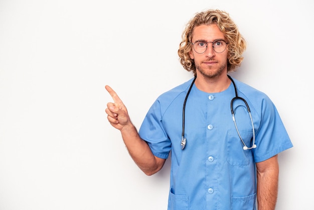
[(130, 156), (146, 175), (152, 175), (163, 167), (165, 160), (152, 154), (148, 144), (139, 137), (131, 123), (123, 127), (121, 135)]

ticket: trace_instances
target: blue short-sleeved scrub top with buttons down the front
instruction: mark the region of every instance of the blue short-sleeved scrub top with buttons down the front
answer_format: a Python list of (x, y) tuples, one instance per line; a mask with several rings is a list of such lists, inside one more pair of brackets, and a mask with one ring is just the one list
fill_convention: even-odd
[[(267, 95), (234, 79), (238, 96), (250, 107), (257, 145), (243, 150), (231, 115), (233, 84), (217, 93), (194, 84), (186, 103), (187, 143), (182, 150), (182, 110), (192, 80), (158, 97), (139, 129), (156, 157), (167, 159), (171, 152), (168, 209), (256, 209), (255, 163), (292, 147), (278, 112)], [(245, 103), (235, 100), (233, 109), (241, 137), (251, 147)]]

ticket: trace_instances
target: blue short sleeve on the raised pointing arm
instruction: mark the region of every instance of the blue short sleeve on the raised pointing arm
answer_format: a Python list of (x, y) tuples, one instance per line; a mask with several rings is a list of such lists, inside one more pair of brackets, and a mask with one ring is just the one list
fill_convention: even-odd
[(147, 112), (139, 129), (139, 136), (147, 142), (154, 156), (167, 159), (171, 141), (163, 126), (161, 104), (156, 100)]

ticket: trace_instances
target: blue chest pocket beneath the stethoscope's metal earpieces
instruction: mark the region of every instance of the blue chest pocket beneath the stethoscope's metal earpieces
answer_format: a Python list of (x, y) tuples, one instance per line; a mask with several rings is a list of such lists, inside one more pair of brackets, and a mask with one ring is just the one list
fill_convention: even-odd
[[(252, 144), (253, 132), (239, 131), (244, 143)], [(247, 166), (253, 160), (251, 150), (243, 150), (243, 144), (236, 131), (228, 131), (227, 135), (227, 162), (234, 166)]]

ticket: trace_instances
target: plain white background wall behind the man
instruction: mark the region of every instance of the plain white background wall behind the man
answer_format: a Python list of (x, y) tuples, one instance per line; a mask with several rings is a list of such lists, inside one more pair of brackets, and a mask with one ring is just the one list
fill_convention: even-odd
[(170, 161), (153, 176), (137, 168), (107, 122), (104, 86), (139, 128), (156, 97), (192, 78), (181, 34), (210, 8), (248, 42), (232, 75), (273, 100), (294, 145), (279, 154), (276, 209), (314, 209), (313, 5), (0, 0), (0, 209), (166, 209)]

